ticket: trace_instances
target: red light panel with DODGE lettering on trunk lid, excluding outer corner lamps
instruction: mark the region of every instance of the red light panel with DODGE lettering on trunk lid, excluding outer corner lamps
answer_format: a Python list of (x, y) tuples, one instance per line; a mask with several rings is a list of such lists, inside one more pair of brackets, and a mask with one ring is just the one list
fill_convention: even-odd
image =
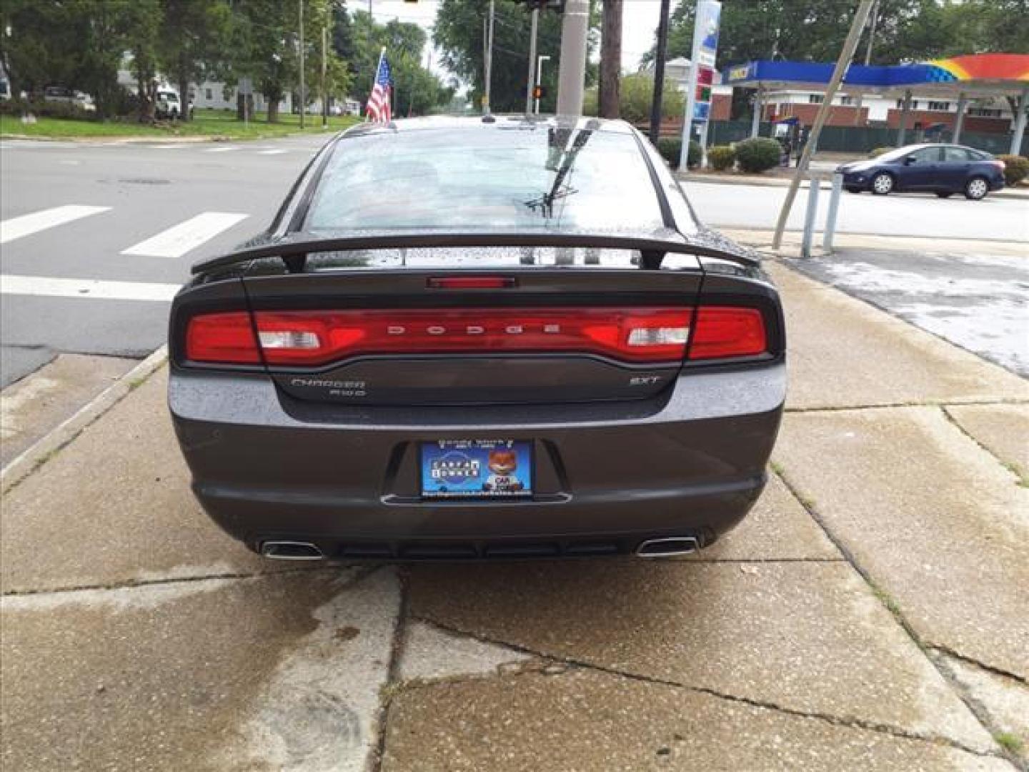
[(270, 364), (325, 364), (359, 354), (586, 352), (680, 361), (689, 309), (258, 311)]

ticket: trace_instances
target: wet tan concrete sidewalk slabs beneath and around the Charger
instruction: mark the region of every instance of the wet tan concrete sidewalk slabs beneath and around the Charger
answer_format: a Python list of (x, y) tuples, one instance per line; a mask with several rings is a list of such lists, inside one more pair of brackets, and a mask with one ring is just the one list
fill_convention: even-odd
[(3, 496), (3, 767), (1025, 769), (1029, 384), (771, 270), (769, 489), (681, 560), (262, 562), (157, 371)]

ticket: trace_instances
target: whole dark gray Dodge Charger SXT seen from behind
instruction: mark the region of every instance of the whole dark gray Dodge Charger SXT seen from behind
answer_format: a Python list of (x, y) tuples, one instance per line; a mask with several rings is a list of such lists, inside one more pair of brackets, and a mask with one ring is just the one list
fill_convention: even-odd
[(175, 429), (268, 557), (681, 554), (765, 486), (778, 292), (627, 124), (356, 127), (193, 274)]

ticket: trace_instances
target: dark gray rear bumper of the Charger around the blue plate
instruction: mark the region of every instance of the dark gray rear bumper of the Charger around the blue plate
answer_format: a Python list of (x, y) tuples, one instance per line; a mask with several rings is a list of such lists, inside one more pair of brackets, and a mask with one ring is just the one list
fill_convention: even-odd
[[(563, 406), (351, 408), (262, 376), (173, 367), (169, 402), (193, 491), (229, 534), (329, 557), (631, 552), (736, 525), (765, 485), (785, 365), (694, 373), (660, 397)], [(534, 443), (531, 500), (425, 501), (418, 443)]]

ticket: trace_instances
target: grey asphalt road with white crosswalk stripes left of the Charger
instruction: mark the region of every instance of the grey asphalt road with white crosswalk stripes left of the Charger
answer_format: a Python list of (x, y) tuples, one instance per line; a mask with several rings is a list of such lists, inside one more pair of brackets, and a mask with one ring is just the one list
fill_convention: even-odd
[(326, 139), (0, 142), (0, 386), (159, 346), (189, 266), (263, 230)]

